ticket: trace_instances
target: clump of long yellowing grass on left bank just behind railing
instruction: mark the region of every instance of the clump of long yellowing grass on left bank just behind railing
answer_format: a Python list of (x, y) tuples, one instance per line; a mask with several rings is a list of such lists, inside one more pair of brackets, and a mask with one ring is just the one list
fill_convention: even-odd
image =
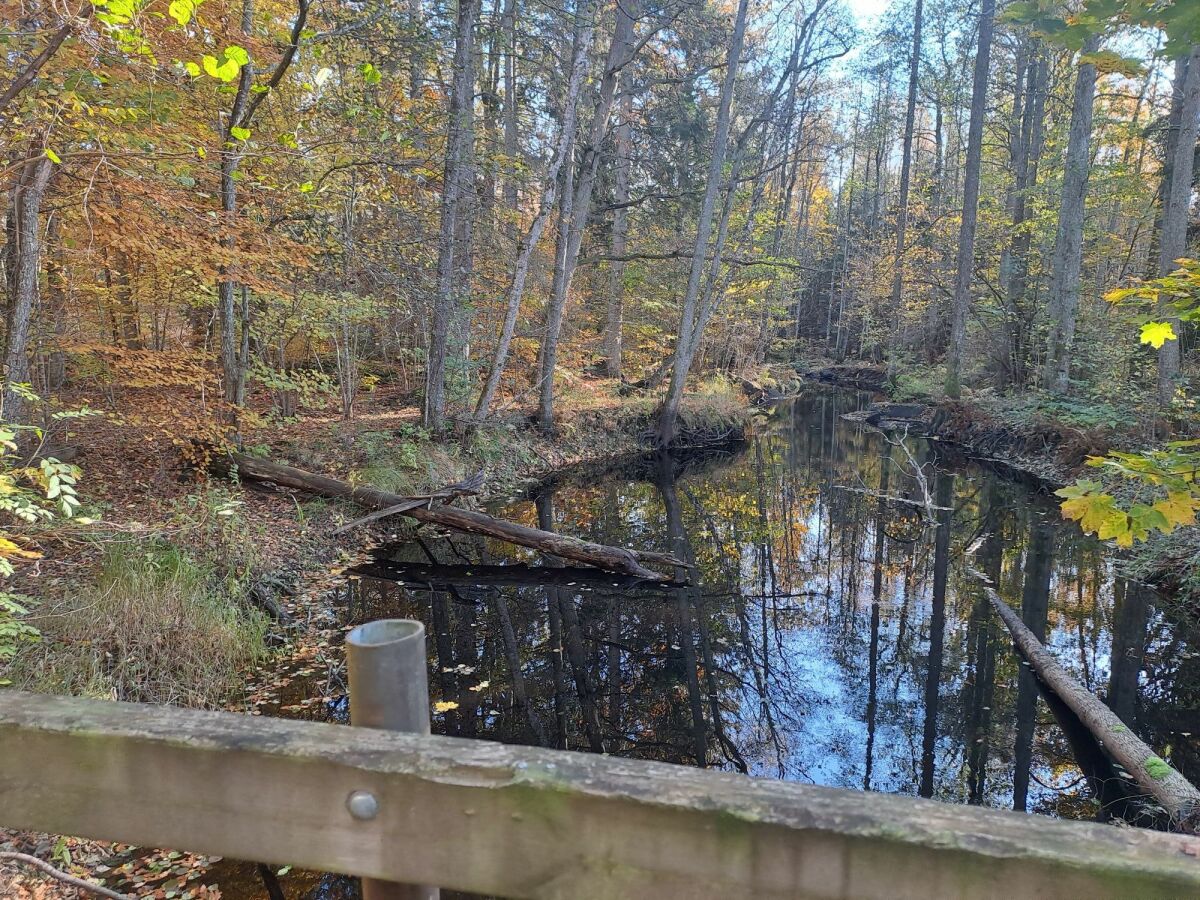
[(223, 706), (265, 653), (265, 616), (244, 599), (257, 563), (238, 500), (206, 487), (152, 535), (101, 533), (86, 590), (38, 607), (38, 643), (13, 686), (187, 707)]

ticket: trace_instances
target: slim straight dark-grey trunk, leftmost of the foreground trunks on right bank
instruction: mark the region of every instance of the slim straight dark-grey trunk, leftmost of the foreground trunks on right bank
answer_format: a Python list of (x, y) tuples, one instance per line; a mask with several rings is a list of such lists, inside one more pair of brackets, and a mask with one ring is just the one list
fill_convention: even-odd
[(946, 358), (946, 394), (958, 397), (961, 389), (962, 344), (966, 341), (967, 310), (974, 269), (974, 233), (979, 216), (979, 168), (983, 158), (983, 116), (988, 100), (988, 68), (991, 62), (991, 34), (996, 0), (983, 0), (979, 11), (979, 47), (976, 50), (971, 88), (971, 120), (967, 126), (967, 160), (962, 185), (962, 226), (959, 229), (958, 265), (954, 277), (954, 308), (950, 318), (950, 347)]

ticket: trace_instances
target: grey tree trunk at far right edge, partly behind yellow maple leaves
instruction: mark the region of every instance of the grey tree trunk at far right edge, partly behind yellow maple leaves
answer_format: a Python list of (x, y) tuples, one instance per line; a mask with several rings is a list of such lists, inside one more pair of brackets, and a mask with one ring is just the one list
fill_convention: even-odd
[[(1176, 72), (1180, 70), (1176, 67)], [(1188, 206), (1192, 202), (1192, 176), (1195, 166), (1198, 128), (1200, 128), (1200, 43), (1193, 44), (1180, 92), (1180, 131), (1175, 139), (1171, 180), (1164, 191), (1163, 230), (1159, 235), (1158, 274), (1169, 275), (1175, 260), (1187, 252)], [(1162, 311), (1166, 311), (1163, 305)], [(1178, 319), (1169, 317), (1178, 334)], [(1180, 380), (1180, 342), (1168, 341), (1158, 352), (1158, 402), (1166, 406), (1175, 397)]]

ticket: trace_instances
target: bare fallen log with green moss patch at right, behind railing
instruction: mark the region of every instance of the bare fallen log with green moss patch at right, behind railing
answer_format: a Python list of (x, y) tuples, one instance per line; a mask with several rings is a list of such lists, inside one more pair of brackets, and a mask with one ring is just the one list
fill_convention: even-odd
[(1117, 718), (1116, 713), (1058, 665), (1054, 655), (1021, 622), (1020, 616), (996, 593), (986, 575), (971, 566), (967, 566), (967, 572), (979, 580), (988, 600), (1012, 632), (1013, 643), (1037, 677), (1067, 704), (1104, 751), (1158, 802), (1177, 830), (1188, 834), (1200, 832), (1200, 791), (1156, 755)]

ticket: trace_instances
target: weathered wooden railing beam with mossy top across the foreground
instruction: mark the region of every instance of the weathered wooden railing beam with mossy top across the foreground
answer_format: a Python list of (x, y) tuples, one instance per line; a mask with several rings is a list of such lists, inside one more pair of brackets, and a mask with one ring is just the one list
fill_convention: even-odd
[(480, 740), (2, 692), (0, 760), (5, 826), (502, 896), (1200, 895), (1195, 838)]

